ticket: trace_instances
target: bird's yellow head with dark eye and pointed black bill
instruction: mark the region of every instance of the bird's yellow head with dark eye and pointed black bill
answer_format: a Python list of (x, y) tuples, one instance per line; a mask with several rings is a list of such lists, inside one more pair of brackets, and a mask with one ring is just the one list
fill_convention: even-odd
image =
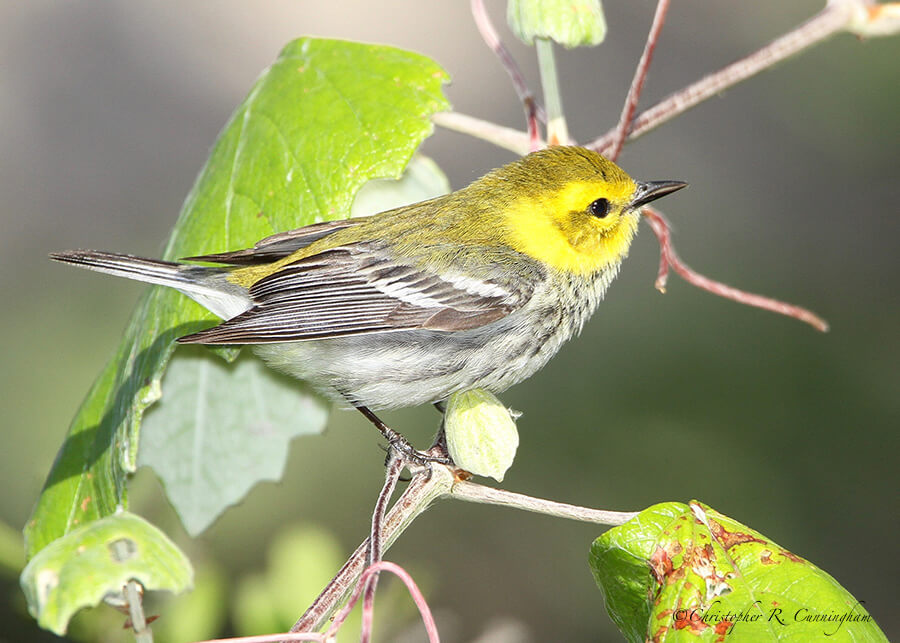
[[(589, 275), (628, 254), (640, 207), (686, 184), (634, 181), (581, 147), (550, 147), (484, 177), (515, 198), (504, 207), (508, 243), (544, 265)], [(485, 186), (488, 187), (488, 186)]]

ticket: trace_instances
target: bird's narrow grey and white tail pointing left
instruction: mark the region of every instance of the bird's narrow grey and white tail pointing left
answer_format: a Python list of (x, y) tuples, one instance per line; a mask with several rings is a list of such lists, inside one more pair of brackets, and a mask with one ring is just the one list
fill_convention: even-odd
[(116, 277), (175, 288), (223, 319), (231, 319), (252, 305), (247, 290), (228, 281), (228, 268), (191, 266), (97, 250), (53, 252), (50, 258)]

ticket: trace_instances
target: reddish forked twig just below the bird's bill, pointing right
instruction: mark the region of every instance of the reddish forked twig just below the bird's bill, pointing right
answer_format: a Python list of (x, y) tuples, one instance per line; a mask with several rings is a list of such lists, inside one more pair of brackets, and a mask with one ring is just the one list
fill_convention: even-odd
[(659, 238), (660, 263), (655, 285), (656, 289), (660, 292), (666, 291), (666, 279), (668, 278), (669, 272), (668, 267), (671, 266), (685, 281), (698, 288), (707, 290), (714, 295), (725, 297), (726, 299), (733, 299), (741, 304), (755, 306), (756, 308), (769, 310), (773, 313), (793, 317), (794, 319), (799, 319), (823, 333), (828, 331), (828, 322), (806, 308), (739, 290), (695, 272), (689, 268), (687, 264), (681, 261), (681, 258), (676, 254), (675, 248), (672, 246), (668, 223), (662, 214), (658, 210), (648, 206), (644, 206), (643, 212), (644, 217), (650, 223), (650, 227), (653, 228), (653, 232), (655, 232), (656, 236)]

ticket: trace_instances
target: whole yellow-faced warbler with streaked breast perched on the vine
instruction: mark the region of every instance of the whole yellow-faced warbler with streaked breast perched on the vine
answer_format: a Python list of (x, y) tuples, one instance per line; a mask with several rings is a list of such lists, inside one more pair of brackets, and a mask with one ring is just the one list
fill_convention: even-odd
[(499, 392), (540, 369), (603, 298), (640, 207), (685, 185), (550, 147), (446, 196), (187, 259), (215, 267), (51, 257), (181, 291), (225, 321), (179, 342), (251, 344), (384, 432), (369, 409)]

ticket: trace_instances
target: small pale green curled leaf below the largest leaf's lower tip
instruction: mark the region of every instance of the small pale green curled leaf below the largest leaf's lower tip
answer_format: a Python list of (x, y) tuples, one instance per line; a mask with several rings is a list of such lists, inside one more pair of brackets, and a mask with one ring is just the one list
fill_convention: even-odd
[(180, 593), (193, 570), (165, 534), (143, 518), (121, 512), (70, 531), (31, 559), (20, 582), (38, 624), (60, 636), (78, 610), (122, 596), (136, 580), (144, 589)]

